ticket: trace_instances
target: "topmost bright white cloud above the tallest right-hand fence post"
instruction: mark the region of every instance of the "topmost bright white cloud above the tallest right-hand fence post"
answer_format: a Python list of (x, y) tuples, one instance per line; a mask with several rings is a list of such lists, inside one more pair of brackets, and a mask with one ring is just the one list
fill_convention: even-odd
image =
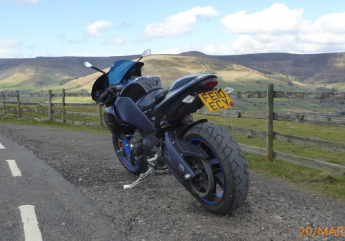
[(302, 18), (302, 9), (290, 10), (284, 3), (274, 3), (261, 12), (230, 14), (221, 20), (228, 32), (238, 34), (279, 34), (295, 32)]

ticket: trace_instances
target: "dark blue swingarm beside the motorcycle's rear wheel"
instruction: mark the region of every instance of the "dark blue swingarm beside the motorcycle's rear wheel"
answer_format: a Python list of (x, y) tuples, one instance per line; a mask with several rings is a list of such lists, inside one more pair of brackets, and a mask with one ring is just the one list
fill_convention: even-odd
[[(186, 129), (190, 128), (191, 126), (193, 126), (193, 124), (187, 128), (183, 128), (182, 131), (186, 131)], [(164, 155), (166, 158), (164, 158), (164, 161), (168, 169), (173, 175), (175, 175), (177, 180), (179, 180), (179, 182), (182, 184), (185, 184), (186, 175), (189, 174), (190, 177), (188, 178), (191, 179), (197, 177), (198, 175), (198, 173), (196, 173), (188, 164), (185, 157), (206, 159), (208, 158), (208, 155), (200, 146), (195, 146), (177, 137), (179, 133), (181, 133), (181, 130), (167, 131), (165, 133)]]

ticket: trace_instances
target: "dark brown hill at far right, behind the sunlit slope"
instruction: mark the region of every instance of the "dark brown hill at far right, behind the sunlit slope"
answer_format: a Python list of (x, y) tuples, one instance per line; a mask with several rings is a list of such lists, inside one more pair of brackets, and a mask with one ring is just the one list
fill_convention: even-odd
[[(181, 53), (197, 56), (195, 52)], [(265, 53), (212, 56), (234, 64), (253, 68), (267, 75), (284, 75), (319, 90), (345, 91), (345, 52), (313, 55)]]

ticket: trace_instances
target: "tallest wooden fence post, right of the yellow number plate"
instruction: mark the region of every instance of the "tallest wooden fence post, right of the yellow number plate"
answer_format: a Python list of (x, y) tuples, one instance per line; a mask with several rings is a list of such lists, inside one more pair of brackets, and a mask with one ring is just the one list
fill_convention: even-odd
[(266, 160), (273, 162), (274, 84), (267, 84)]

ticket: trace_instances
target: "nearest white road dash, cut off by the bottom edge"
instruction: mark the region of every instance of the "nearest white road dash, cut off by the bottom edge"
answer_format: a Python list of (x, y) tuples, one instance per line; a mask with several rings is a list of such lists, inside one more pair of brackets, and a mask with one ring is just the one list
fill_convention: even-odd
[(41, 241), (42, 235), (39, 230), (39, 223), (37, 222), (36, 213), (34, 213), (34, 206), (23, 205), (19, 206), (21, 211), (21, 220), (24, 225), (24, 235), (26, 241)]

